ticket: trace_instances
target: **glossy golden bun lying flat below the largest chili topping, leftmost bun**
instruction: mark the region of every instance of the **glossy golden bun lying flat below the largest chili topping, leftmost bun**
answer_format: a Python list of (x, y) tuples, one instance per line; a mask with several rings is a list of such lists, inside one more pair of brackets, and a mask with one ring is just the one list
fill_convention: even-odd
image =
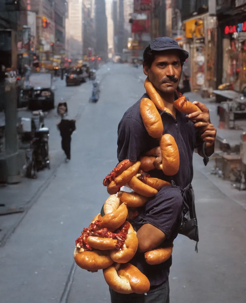
[(74, 251), (74, 259), (75, 263), (83, 269), (96, 271), (107, 268), (114, 263), (109, 256), (109, 251), (79, 251), (80, 249), (76, 247)]

